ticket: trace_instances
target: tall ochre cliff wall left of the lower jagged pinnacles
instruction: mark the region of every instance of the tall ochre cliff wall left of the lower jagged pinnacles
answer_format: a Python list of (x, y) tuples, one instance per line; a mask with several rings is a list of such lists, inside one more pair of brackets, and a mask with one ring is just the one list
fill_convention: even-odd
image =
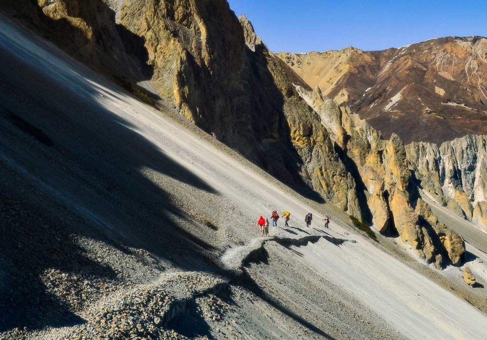
[[(12, 16), (30, 8), (22, 19), (38, 22), (30, 26), (65, 51), (117, 78), (150, 79), (148, 89), (271, 175), (308, 198), (323, 196), (360, 216), (353, 177), (318, 115), (292, 86), (306, 85), (225, 0), (20, 2), (7, 0), (0, 8)], [(76, 22), (74, 32), (83, 26), (87, 40), (60, 41), (49, 27), (62, 22)], [(99, 64), (109, 56), (110, 68)], [(138, 76), (123, 73), (129, 69)]]

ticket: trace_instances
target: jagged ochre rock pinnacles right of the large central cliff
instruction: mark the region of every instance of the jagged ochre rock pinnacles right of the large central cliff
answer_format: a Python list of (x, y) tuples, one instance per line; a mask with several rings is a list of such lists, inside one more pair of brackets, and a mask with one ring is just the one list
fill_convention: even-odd
[(401, 139), (393, 134), (384, 140), (364, 119), (323, 97), (318, 87), (313, 92), (297, 88), (330, 131), (342, 161), (354, 174), (357, 197), (370, 209), (377, 231), (398, 234), (416, 255), (437, 268), (449, 261), (460, 265), (464, 241), (439, 222), (421, 199)]

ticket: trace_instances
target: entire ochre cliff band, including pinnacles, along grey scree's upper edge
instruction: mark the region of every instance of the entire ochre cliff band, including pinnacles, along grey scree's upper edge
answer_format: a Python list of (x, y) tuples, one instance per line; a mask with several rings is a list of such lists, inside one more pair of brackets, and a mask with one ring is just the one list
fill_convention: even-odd
[[(421, 200), (401, 139), (312, 91), (225, 0), (91, 1), (1, 6), (94, 68), (113, 58), (119, 77), (135, 66), (129, 79), (149, 79), (164, 102), (301, 194), (399, 235), (438, 268), (461, 263), (463, 239)], [(84, 40), (59, 40), (48, 28), (62, 22)]]

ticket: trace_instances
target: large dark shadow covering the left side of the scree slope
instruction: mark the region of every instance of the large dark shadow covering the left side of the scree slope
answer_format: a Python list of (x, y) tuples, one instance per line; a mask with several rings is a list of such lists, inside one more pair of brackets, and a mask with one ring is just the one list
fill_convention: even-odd
[(73, 313), (83, 301), (60, 301), (56, 287), (40, 277), (46, 272), (80, 278), (76, 289), (84, 280), (121, 279), (103, 259), (88, 256), (78, 238), (129, 255), (143, 248), (183, 270), (209, 269), (202, 254), (216, 249), (212, 232), (142, 170), (193, 191), (218, 192), (108, 111), (97, 100), (100, 89), (78, 76), (75, 65), (75, 71), (53, 69), (56, 59), (36, 59), (32, 66), (16, 55), (22, 46), (0, 38), (0, 331), (83, 322)]

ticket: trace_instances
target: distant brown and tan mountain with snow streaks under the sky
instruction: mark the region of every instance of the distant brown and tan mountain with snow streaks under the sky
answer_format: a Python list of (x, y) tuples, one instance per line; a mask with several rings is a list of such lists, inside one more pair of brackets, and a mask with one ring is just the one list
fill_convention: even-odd
[(277, 54), (306, 83), (403, 141), (487, 133), (487, 39), (448, 37), (399, 49)]

